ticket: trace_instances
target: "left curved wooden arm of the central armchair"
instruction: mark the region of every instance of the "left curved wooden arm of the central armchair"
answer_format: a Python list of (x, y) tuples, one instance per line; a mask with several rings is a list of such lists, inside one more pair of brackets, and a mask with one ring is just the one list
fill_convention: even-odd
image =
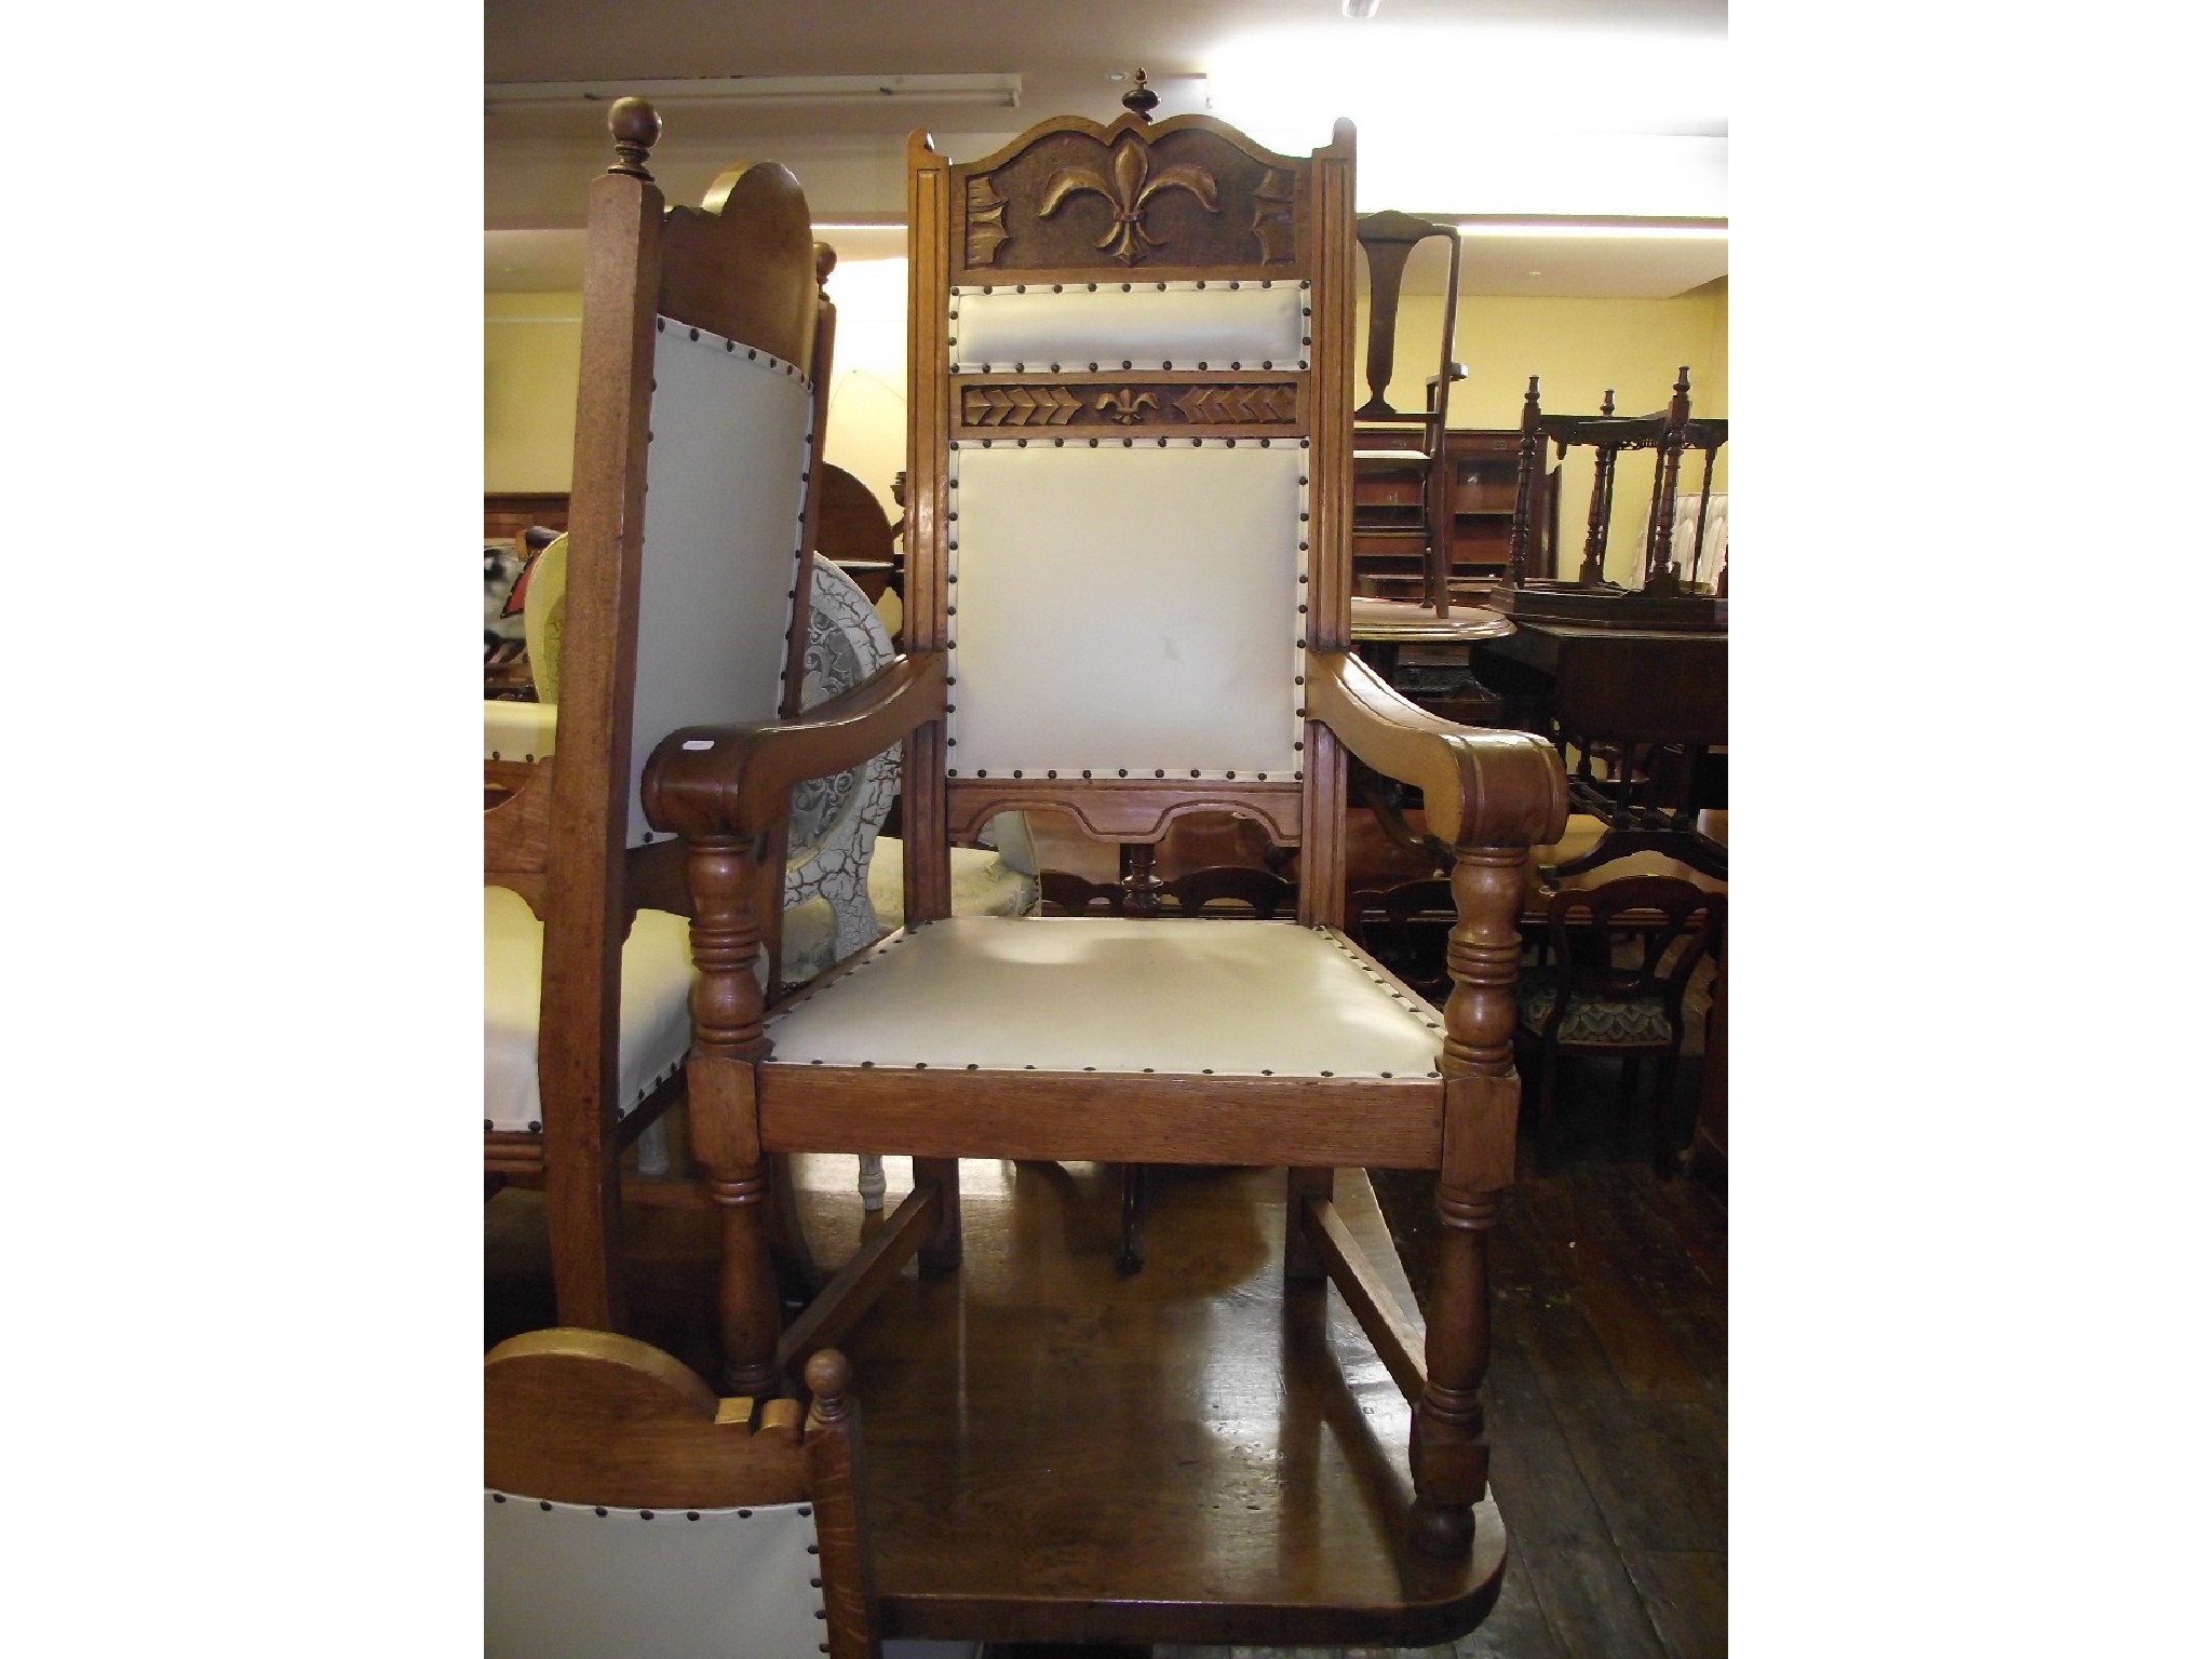
[(790, 790), (860, 765), (916, 726), (945, 719), (945, 653), (894, 657), (843, 697), (787, 721), (686, 726), (655, 745), (646, 821), (686, 838), (757, 836), (790, 812)]

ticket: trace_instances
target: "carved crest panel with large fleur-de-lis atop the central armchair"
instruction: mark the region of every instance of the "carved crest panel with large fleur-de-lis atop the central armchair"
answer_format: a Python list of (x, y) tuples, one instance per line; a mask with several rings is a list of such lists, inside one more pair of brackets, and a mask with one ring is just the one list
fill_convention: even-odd
[(1310, 186), (1263, 155), (1203, 126), (1051, 131), (964, 179), (958, 246), (975, 272), (1294, 270)]

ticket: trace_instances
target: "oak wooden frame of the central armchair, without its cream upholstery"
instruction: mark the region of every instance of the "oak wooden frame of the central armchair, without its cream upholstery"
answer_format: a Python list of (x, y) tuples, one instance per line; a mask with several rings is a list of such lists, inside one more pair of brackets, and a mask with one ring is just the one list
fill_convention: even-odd
[[(1239, 270), (1177, 263), (1146, 254), (1157, 281), (1310, 283), (1312, 372), (1296, 380), (1290, 420), (1199, 427), (1183, 438), (1305, 440), (1312, 478), (1312, 560), (1307, 615), (1301, 617), (1303, 741), (1287, 779), (1190, 783), (1155, 779), (962, 776), (947, 770), (947, 456), (956, 436), (947, 285), (1009, 281), (1013, 272), (975, 259), (991, 254), (989, 190), (971, 190), (1044, 139), (1073, 135), (1104, 161), (1117, 146), (1146, 150), (1230, 146), (1261, 168), (1290, 177), (1294, 243)], [(1170, 144), (1172, 142), (1172, 144)], [(1148, 126), (1139, 115), (1099, 126), (1082, 117), (1044, 122), (1011, 146), (971, 164), (949, 164), (927, 135), (909, 142), (911, 281), (909, 453), (907, 453), (907, 653), (876, 681), (779, 728), (684, 730), (646, 770), (653, 821), (690, 849), (699, 905), (695, 960), (697, 1042), (690, 1060), (695, 1135), (721, 1152), (717, 1181), (730, 1183), (723, 1232), (726, 1387), (765, 1391), (779, 1371), (805, 1360), (858, 1318), (905, 1254), (947, 1270), (960, 1256), (958, 1159), (1099, 1159), (1159, 1164), (1292, 1166), (1287, 1270), (1332, 1279), (1356, 1310), (1389, 1374), (1413, 1405), (1413, 1537), (1420, 1548), (1467, 1555), (1473, 1504), (1489, 1475), (1478, 1389), (1489, 1360), (1486, 1241), (1513, 1179), (1520, 1079), (1513, 1071), (1520, 960), (1520, 902), (1526, 849), (1555, 841), (1566, 825), (1566, 779), (1557, 754), (1524, 732), (1473, 730), (1438, 719), (1352, 655), (1349, 500), (1352, 500), (1352, 128), (1340, 122), (1312, 157), (1261, 150), (1234, 128), (1201, 115)], [(1221, 150), (1223, 155), (1228, 148)], [(1139, 201), (1141, 206), (1141, 201)], [(1093, 226), (1095, 228), (1095, 226)], [(1064, 237), (1057, 265), (1022, 268), (1026, 283), (1124, 279), (1113, 254), (1084, 234)], [(1265, 248), (1265, 241), (1263, 241)], [(1157, 259), (1157, 263), (1155, 263)], [(1157, 385), (1181, 394), (1190, 372), (1029, 376), (1055, 385)], [(1237, 380), (1239, 372), (1210, 383)], [(1243, 369), (1245, 383), (1267, 374)], [(1287, 380), (1290, 376), (1272, 376)], [(1166, 405), (1168, 398), (1159, 398)], [(1113, 427), (1108, 427), (1113, 431)], [(1071, 438), (1073, 440), (1073, 438)], [(949, 845), (995, 812), (1062, 810), (1093, 836), (1157, 843), (1183, 812), (1237, 810), (1261, 818), (1279, 845), (1301, 847), (1298, 922), (1340, 938), (1345, 902), (1347, 752), (1378, 772), (1413, 783), (1427, 801), (1429, 830), (1451, 849), (1458, 925), (1449, 947), (1451, 995), (1442, 1006), (1433, 1077), (1391, 1082), (1345, 1077), (1177, 1077), (1115, 1073), (947, 1073), (863, 1071), (854, 1066), (772, 1066), (765, 1009), (752, 975), (759, 920), (745, 905), (757, 887), (761, 836), (796, 776), (852, 765), (885, 741), (905, 737), (907, 931), (949, 916)], [(1004, 922), (1018, 927), (1024, 922)], [(876, 947), (894, 949), (900, 936)], [(1358, 956), (1387, 982), (1371, 958)], [(874, 953), (869, 953), (874, 956)], [(863, 956), (860, 962), (869, 958)], [(854, 971), (852, 964), (841, 973)], [(834, 978), (834, 975), (832, 975)], [(827, 984), (818, 982), (818, 984)], [(1402, 987), (1398, 987), (1402, 991)], [(907, 1152), (916, 1188), (898, 1214), (838, 1274), (790, 1329), (781, 1327), (770, 1281), (763, 1199), (774, 1152)], [(1438, 1272), (1427, 1347), (1383, 1287), (1329, 1190), (1338, 1166), (1438, 1170)]]

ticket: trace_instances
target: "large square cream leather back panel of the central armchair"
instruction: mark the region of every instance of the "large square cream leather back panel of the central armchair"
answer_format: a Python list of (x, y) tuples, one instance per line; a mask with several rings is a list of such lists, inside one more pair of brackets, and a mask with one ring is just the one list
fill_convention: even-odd
[(1250, 438), (958, 445), (947, 765), (1292, 776), (1305, 460)]

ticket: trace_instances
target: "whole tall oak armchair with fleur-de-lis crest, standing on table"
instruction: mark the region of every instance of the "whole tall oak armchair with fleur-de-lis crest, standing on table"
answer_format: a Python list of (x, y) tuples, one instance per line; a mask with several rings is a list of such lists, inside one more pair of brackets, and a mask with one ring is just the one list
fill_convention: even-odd
[[(1542, 739), (1425, 714), (1347, 650), (1349, 124), (1310, 157), (1197, 115), (1062, 117), (967, 164), (918, 137), (909, 226), (911, 655), (836, 730), (677, 732), (646, 772), (655, 823), (712, 876), (699, 938), (732, 945), (695, 947), (692, 1124), (743, 1159), (717, 1186), (757, 1199), (779, 1150), (916, 1159), (907, 1203), (787, 1332), (763, 1206), (728, 1203), (732, 1383), (768, 1389), (836, 1340), (902, 1252), (951, 1267), (960, 1157), (1292, 1166), (1290, 1272), (1360, 1310), (1416, 1402), (1411, 1535), (1467, 1557), (1522, 869), (1566, 783)], [(907, 927), (765, 1011), (750, 849), (792, 776), (894, 730)], [(1453, 852), (1442, 1013), (1338, 927), (1347, 750), (1416, 783)], [(1009, 810), (1117, 843), (1252, 814), (1301, 847), (1298, 916), (951, 916), (949, 843)], [(1336, 1166), (1440, 1172), (1425, 1349), (1329, 1203)]]

